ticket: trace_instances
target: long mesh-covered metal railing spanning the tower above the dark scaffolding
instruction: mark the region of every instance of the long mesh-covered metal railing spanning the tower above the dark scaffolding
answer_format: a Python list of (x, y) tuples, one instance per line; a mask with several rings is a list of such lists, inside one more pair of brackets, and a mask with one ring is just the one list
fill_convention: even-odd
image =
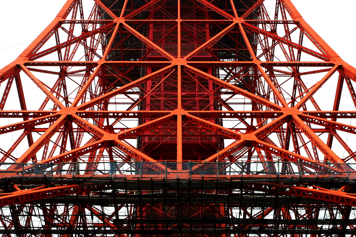
[(197, 179), (236, 178), (335, 178), (356, 180), (356, 164), (329, 162), (69, 162), (1, 163), (6, 177), (131, 177)]

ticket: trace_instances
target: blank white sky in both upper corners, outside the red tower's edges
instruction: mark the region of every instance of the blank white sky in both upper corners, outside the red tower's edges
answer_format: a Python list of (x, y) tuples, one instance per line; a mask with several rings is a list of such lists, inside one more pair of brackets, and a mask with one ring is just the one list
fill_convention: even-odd
[[(0, 0), (0, 68), (53, 20), (65, 0)], [(356, 1), (292, 0), (305, 21), (347, 63), (356, 67)], [(337, 4), (335, 4), (337, 2)]]

